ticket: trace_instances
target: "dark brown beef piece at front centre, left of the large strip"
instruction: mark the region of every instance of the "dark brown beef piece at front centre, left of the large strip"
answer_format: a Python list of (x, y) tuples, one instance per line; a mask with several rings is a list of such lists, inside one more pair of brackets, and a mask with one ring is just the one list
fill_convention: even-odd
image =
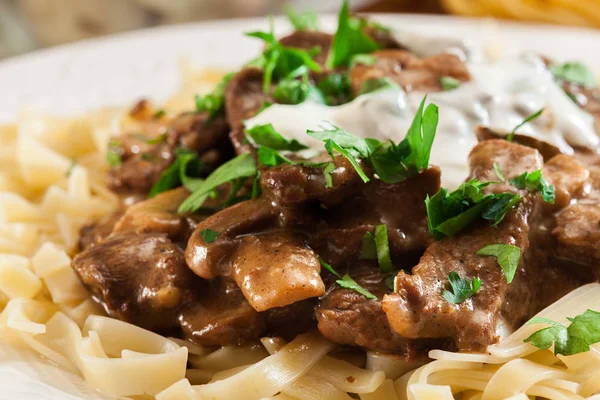
[[(390, 274), (373, 262), (361, 261), (351, 267), (352, 278), (381, 299), (392, 292), (386, 284)], [(342, 271), (343, 272), (343, 271)], [(345, 345), (361, 346), (388, 354), (401, 354), (407, 360), (424, 358), (429, 349), (452, 348), (444, 340), (410, 340), (392, 331), (379, 300), (367, 299), (333, 280), (315, 309), (319, 331), (328, 339)]]

